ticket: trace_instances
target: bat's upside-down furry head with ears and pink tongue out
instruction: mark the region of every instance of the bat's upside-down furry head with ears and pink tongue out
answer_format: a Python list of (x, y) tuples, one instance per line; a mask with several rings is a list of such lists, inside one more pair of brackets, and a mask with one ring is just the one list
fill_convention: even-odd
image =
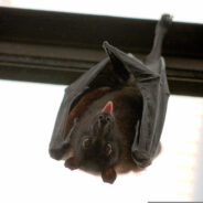
[(105, 182), (113, 183), (116, 179), (115, 165), (120, 158), (120, 139), (113, 101), (101, 109), (92, 110), (84, 116), (72, 139), (73, 157), (67, 159), (67, 168), (86, 169), (101, 172)]

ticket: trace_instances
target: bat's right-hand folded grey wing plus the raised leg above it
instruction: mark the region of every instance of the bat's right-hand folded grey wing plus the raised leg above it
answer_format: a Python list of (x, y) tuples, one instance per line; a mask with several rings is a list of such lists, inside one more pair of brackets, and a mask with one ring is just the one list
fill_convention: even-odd
[(132, 159), (140, 168), (149, 165), (154, 158), (163, 128), (170, 92), (164, 60), (160, 53), (163, 36), (170, 24), (171, 17), (162, 15), (156, 29), (152, 51), (146, 63), (132, 55), (125, 54), (108, 43), (104, 43), (113, 65), (122, 64), (124, 68), (132, 73), (142, 95), (142, 116), (135, 127), (136, 135), (131, 147)]

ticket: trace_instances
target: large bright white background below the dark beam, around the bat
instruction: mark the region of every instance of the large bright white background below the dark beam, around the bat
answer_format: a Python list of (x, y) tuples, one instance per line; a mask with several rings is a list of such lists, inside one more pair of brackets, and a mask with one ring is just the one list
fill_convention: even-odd
[[(140, 173), (117, 178), (70, 171), (49, 156), (65, 86), (0, 81), (0, 202), (190, 201), (199, 168), (203, 99), (172, 96), (162, 153)], [(200, 200), (200, 199), (199, 199)]]

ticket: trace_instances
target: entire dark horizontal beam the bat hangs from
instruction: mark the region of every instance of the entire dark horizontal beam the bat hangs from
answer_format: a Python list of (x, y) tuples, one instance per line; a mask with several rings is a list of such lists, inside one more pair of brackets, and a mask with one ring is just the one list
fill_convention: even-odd
[[(142, 58), (156, 23), (0, 8), (0, 78), (70, 84), (105, 57), (105, 40)], [(203, 96), (202, 38), (203, 24), (172, 24), (163, 44), (171, 93)]]

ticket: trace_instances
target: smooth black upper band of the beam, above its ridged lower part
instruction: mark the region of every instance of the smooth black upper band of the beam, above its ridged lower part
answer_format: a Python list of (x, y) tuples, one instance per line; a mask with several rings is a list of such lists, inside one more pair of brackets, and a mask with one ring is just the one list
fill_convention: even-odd
[[(156, 20), (0, 8), (0, 39), (10, 42), (100, 49), (103, 41), (148, 53)], [(124, 34), (125, 33), (125, 34)], [(163, 53), (202, 57), (203, 24), (174, 22)]]

